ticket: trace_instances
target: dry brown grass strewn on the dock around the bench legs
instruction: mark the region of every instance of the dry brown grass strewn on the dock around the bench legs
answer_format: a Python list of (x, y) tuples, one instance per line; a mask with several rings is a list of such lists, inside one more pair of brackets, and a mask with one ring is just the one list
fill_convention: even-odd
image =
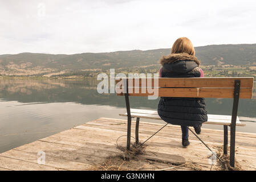
[[(122, 137), (122, 136), (121, 136)], [(118, 138), (119, 139), (119, 138)], [(117, 139), (117, 141), (118, 141)], [(88, 170), (94, 170), (94, 171), (137, 171), (141, 169), (155, 169), (154, 164), (166, 164), (169, 166), (168, 168), (161, 168), (157, 169), (157, 171), (165, 171), (165, 170), (177, 170), (176, 168), (180, 167), (186, 167), (188, 169), (192, 169), (195, 171), (201, 171), (202, 166), (200, 164), (194, 163), (194, 162), (188, 162), (188, 163), (170, 163), (165, 160), (158, 160), (158, 159), (148, 159), (144, 158), (143, 154), (146, 154), (146, 148), (147, 145), (143, 144), (143, 146), (140, 146), (141, 143), (135, 144), (133, 143), (131, 145), (130, 150), (126, 150), (126, 147), (121, 146), (116, 142), (116, 148), (122, 152), (122, 154), (115, 155), (115, 156), (109, 156), (107, 159), (104, 160), (103, 163), (97, 164), (94, 167), (88, 169)], [(140, 146), (140, 147), (138, 147)], [(212, 166), (211, 170), (216, 171), (241, 171), (242, 167), (238, 164), (237, 161), (235, 161), (235, 167), (231, 167), (229, 165), (229, 156), (223, 154), (223, 146), (214, 146), (216, 148), (216, 154), (217, 156), (222, 160), (223, 163), (221, 163), (219, 160), (217, 160), (217, 163)], [(150, 152), (150, 151), (147, 151)], [(153, 152), (152, 152), (153, 154)], [(139, 162), (143, 163), (144, 165), (139, 166)], [(137, 163), (137, 165), (135, 165)]]

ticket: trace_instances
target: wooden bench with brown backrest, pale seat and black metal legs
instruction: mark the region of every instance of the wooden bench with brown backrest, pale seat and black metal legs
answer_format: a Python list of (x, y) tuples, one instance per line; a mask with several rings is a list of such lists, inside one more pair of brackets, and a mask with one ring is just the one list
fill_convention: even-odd
[[(131, 143), (131, 118), (136, 118), (136, 143), (139, 142), (140, 118), (160, 119), (156, 110), (131, 109), (129, 96), (233, 98), (232, 115), (208, 115), (204, 124), (224, 125), (224, 154), (227, 154), (227, 126), (230, 126), (230, 166), (235, 161), (235, 126), (245, 126), (237, 117), (239, 98), (252, 98), (253, 77), (229, 78), (116, 78), (117, 96), (125, 96), (127, 113), (127, 150)], [(158, 103), (156, 103), (157, 105)], [(207, 103), (206, 103), (207, 104)], [(207, 109), (207, 108), (206, 108)]]

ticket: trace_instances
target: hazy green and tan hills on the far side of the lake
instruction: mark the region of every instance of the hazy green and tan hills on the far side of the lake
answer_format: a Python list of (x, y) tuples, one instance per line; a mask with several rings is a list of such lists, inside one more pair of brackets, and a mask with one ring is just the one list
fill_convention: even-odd
[[(196, 56), (202, 65), (255, 65), (256, 44), (227, 44), (196, 47)], [(161, 55), (168, 55), (170, 49), (148, 51), (116, 51), (103, 53), (79, 53), (74, 55), (52, 55), (44, 53), (19, 53), (0, 55), (1, 75), (47, 75), (63, 74), (95, 69), (131, 67), (160, 67), (157, 61)]]

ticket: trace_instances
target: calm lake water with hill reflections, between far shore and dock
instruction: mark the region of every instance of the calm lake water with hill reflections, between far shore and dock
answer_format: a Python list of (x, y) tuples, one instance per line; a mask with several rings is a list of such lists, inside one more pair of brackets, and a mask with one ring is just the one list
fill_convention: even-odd
[[(100, 117), (125, 119), (119, 116), (126, 111), (124, 97), (99, 94), (96, 84), (95, 79), (0, 80), (0, 152)], [(132, 108), (157, 109), (159, 99), (130, 101)], [(231, 115), (232, 105), (232, 99), (206, 98), (209, 114)], [(240, 100), (238, 115), (251, 121), (237, 131), (256, 133), (256, 100)], [(222, 130), (222, 126), (203, 127)]]

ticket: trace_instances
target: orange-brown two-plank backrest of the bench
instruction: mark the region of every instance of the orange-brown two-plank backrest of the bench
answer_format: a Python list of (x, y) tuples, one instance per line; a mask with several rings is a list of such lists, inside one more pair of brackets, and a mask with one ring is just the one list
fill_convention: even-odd
[(237, 80), (239, 98), (252, 98), (253, 77), (116, 78), (116, 87), (123, 89), (117, 96), (153, 96), (152, 89), (157, 89), (159, 97), (234, 98)]

